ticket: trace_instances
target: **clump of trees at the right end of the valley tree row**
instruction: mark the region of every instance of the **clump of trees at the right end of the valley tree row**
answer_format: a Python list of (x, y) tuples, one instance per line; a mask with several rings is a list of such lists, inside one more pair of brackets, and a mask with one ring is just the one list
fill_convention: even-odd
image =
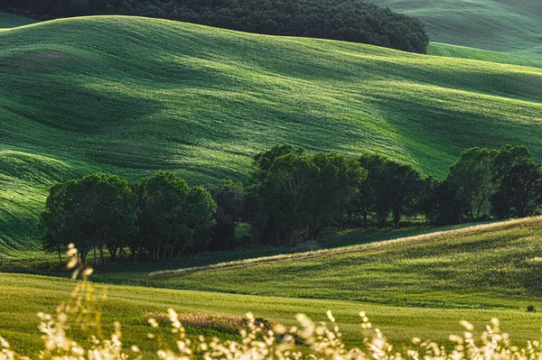
[(526, 146), (465, 150), (445, 180), (425, 179), (420, 209), (439, 224), (528, 217), (542, 207), (542, 171)]

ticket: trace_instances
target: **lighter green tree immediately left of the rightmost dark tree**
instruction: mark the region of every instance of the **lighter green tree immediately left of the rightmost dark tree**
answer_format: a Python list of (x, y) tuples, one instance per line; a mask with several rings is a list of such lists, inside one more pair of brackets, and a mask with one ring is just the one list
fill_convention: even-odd
[(495, 157), (498, 151), (474, 147), (461, 153), (450, 167), (448, 181), (456, 195), (471, 206), (470, 216), (480, 217), (495, 189)]

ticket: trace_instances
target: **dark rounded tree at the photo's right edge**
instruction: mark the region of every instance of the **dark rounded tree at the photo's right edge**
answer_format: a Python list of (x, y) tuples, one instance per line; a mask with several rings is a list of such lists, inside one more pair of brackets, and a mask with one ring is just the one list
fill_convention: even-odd
[(528, 217), (542, 205), (542, 171), (526, 146), (503, 146), (495, 158), (497, 169), (491, 213), (498, 218)]

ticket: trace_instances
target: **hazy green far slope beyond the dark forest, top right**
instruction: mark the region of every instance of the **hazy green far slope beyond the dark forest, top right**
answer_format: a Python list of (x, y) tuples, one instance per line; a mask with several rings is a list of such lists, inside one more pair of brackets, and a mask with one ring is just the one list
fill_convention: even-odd
[(539, 0), (369, 0), (425, 23), (431, 42), (542, 60)]

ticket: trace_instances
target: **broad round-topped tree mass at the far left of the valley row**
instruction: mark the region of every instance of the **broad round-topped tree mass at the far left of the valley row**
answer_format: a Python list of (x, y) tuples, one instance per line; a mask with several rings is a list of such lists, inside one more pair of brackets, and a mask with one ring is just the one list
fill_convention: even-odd
[(128, 182), (112, 175), (87, 175), (54, 185), (42, 216), (44, 246), (59, 251), (61, 245), (74, 243), (83, 264), (94, 249), (97, 265), (104, 261), (105, 246), (115, 261), (123, 240), (137, 232), (135, 198)]

